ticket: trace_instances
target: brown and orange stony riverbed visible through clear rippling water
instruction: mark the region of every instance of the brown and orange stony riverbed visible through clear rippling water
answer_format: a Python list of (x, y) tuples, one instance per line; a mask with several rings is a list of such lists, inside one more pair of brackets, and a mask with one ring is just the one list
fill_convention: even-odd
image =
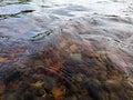
[(72, 31), (2, 43), (9, 56), (0, 57), (0, 100), (132, 100), (133, 57)]

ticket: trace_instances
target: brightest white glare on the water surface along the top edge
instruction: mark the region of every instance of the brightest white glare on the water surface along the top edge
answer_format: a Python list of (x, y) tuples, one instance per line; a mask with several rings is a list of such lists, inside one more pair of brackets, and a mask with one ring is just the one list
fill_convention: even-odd
[[(132, 3), (131, 0), (40, 0), (40, 4), (47, 3), (49, 6), (81, 6), (88, 8), (88, 13), (100, 13), (100, 14), (116, 14), (116, 16), (125, 16), (127, 13), (126, 9), (129, 3)], [(37, 0), (33, 2), (38, 3)]]

